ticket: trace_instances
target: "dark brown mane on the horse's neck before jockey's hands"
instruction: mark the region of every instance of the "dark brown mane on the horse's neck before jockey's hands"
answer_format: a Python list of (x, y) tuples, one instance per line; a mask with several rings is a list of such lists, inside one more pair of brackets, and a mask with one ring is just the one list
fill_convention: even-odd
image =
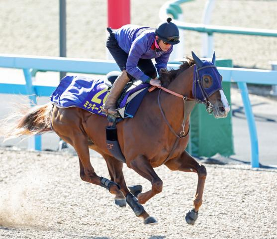
[(168, 87), (168, 85), (183, 71), (185, 71), (187, 68), (189, 68), (190, 66), (192, 66), (193, 64), (195, 64), (194, 60), (187, 56), (185, 57), (185, 61), (181, 61), (183, 62), (183, 64), (179, 67), (179, 69), (174, 70), (174, 69), (170, 69), (167, 70), (166, 68), (161, 69), (160, 70), (160, 77), (159, 80), (162, 82), (162, 86), (163, 87)]

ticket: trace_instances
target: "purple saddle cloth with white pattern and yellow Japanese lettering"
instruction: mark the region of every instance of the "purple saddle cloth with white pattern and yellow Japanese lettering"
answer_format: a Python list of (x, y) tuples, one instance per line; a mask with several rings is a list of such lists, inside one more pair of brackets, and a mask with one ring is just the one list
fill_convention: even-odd
[[(133, 118), (149, 84), (140, 84), (126, 92), (119, 104), (121, 118)], [(102, 79), (94, 80), (86, 76), (66, 76), (52, 93), (50, 101), (59, 107), (78, 107), (93, 114), (102, 113), (102, 105), (108, 96), (108, 86)], [(122, 110), (123, 109), (123, 110)], [(121, 110), (121, 111), (120, 111)]]

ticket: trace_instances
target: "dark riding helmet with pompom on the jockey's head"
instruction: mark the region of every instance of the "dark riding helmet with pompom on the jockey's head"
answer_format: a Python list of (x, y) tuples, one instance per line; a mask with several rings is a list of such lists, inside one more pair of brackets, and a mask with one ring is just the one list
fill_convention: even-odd
[(178, 44), (179, 41), (179, 29), (176, 24), (171, 22), (169, 17), (166, 22), (161, 22), (155, 30), (156, 35), (160, 40), (167, 42), (171, 45)]

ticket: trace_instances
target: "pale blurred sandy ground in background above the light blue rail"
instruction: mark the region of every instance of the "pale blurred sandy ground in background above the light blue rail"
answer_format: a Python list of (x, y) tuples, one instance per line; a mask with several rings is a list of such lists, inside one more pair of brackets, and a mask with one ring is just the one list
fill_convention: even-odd
[[(131, 0), (131, 23), (156, 27), (159, 10), (166, 0)], [(201, 23), (205, 0), (180, 6), (185, 22)], [(0, 53), (59, 56), (58, 0), (0, 0)], [(106, 0), (66, 0), (67, 56), (105, 59)], [(276, 0), (215, 0), (213, 25), (277, 29)], [(185, 52), (200, 54), (201, 37), (185, 31)], [(277, 60), (277, 38), (214, 34), (217, 57), (234, 65), (271, 69)]]

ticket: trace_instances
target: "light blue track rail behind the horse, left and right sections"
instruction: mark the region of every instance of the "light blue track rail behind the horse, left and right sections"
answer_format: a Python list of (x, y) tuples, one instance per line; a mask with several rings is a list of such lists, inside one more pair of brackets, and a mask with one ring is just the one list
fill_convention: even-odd
[[(168, 66), (177, 69), (179, 64), (169, 64)], [(32, 68), (44, 71), (65, 71), (91, 74), (107, 74), (110, 71), (119, 70), (113, 61), (19, 55), (0, 55), (0, 67), (23, 69), (26, 80), (26, 85), (1, 83), (0, 93), (29, 96), (33, 94), (37, 96), (50, 96), (55, 90), (55, 87), (32, 85)], [(248, 97), (247, 83), (277, 85), (277, 71), (226, 67), (218, 67), (218, 70), (223, 76), (224, 81), (237, 82), (241, 90), (245, 114), (251, 135), (251, 164), (252, 167), (259, 167), (258, 137), (254, 115)], [(263, 80), (261, 81), (261, 79)], [(33, 100), (33, 103), (35, 103), (34, 98), (31, 98), (30, 100)], [(41, 147), (40, 145), (41, 142), (38, 138), (37, 141), (35, 141), (35, 149), (39, 150)]]

